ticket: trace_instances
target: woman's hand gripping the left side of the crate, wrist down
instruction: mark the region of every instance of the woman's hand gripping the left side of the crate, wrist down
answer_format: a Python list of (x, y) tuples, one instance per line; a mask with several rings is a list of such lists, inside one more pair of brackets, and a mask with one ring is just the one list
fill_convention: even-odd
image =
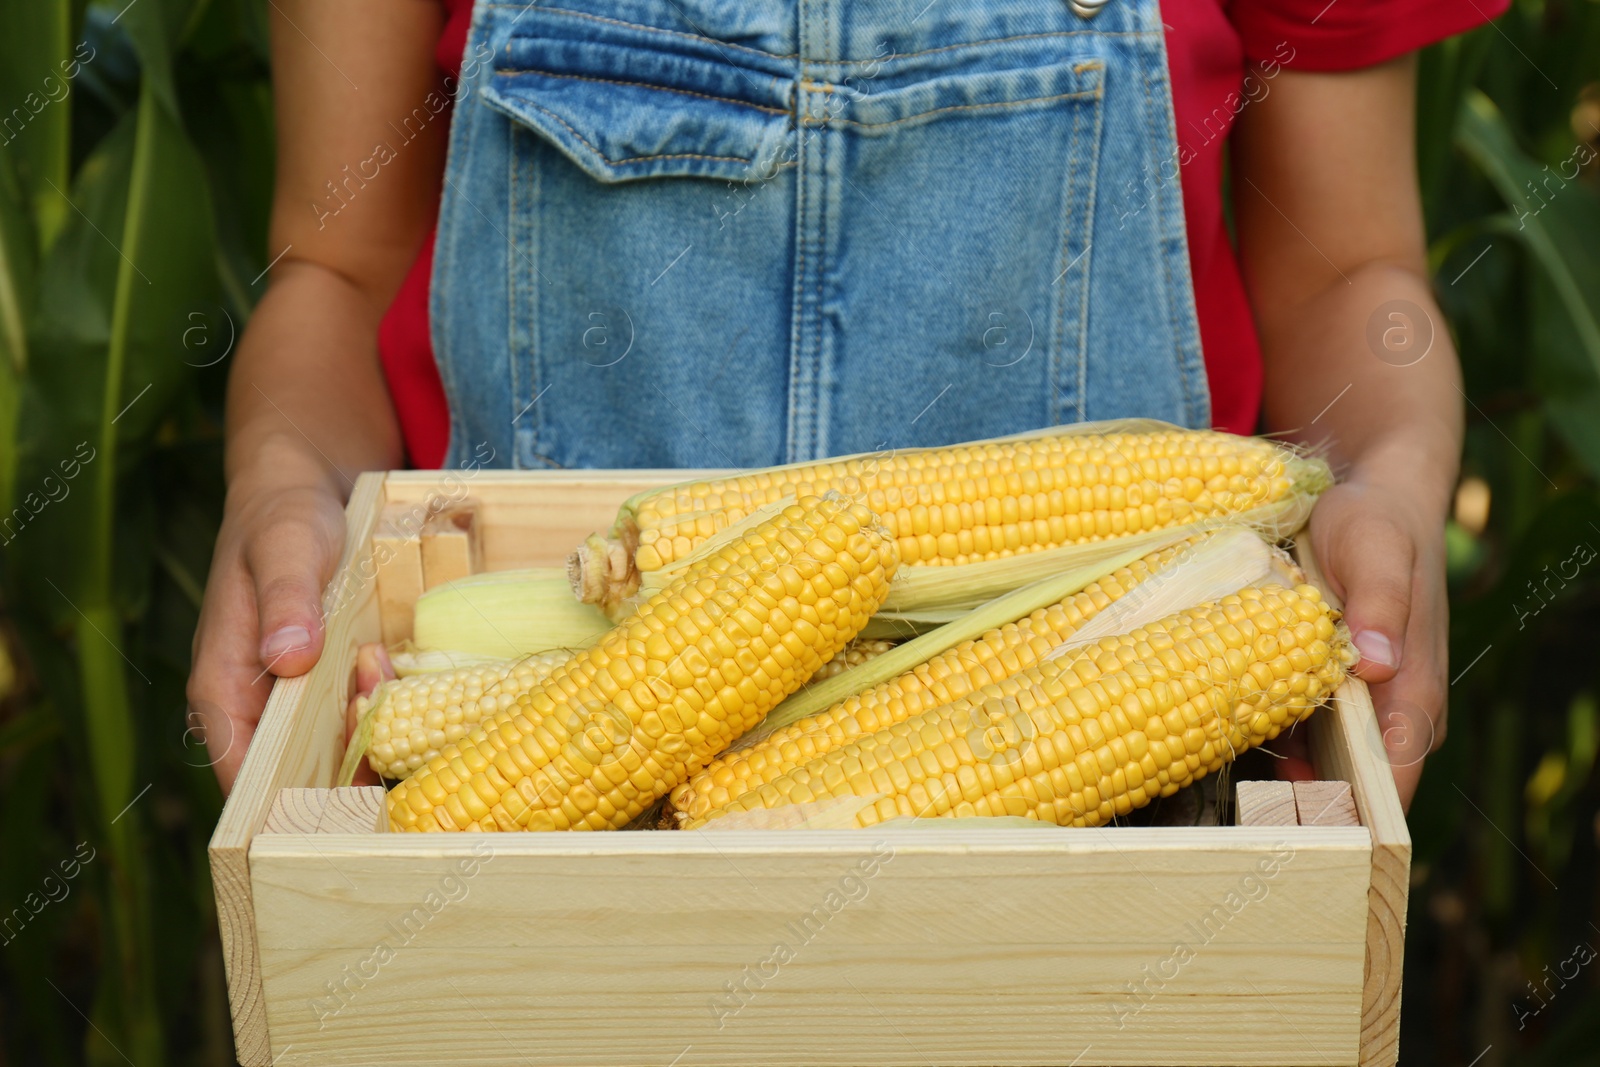
[[(322, 656), (322, 595), (344, 545), (333, 475), (240, 474), (227, 504), (189, 675), (189, 728), (205, 739), (222, 792), (234, 787), (274, 678)], [(323, 467), (326, 472), (326, 467)]]

